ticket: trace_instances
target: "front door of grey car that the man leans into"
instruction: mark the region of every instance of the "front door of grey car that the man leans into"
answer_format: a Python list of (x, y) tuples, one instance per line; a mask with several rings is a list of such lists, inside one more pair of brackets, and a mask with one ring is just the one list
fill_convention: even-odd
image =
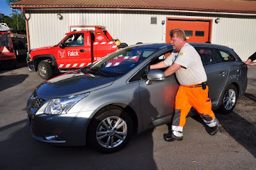
[(149, 65), (163, 61), (165, 56), (170, 55), (169, 53), (170, 51), (168, 54), (157, 56), (141, 70), (139, 84), (141, 116), (144, 128), (168, 123), (172, 119), (175, 96), (179, 88), (175, 75), (166, 77), (164, 81), (154, 81), (150, 85), (145, 84)]

